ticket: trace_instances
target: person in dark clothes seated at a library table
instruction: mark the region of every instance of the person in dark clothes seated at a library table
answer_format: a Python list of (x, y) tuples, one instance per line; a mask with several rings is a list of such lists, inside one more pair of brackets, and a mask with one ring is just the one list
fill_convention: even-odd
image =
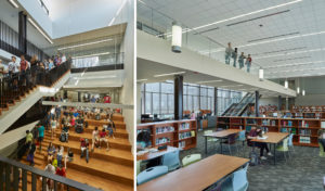
[(262, 130), (260, 128), (256, 128), (256, 126), (252, 126), (251, 127), (251, 130), (249, 131), (249, 135), (247, 136), (247, 144), (249, 147), (257, 147), (257, 148), (260, 148), (260, 157), (261, 160), (266, 160), (265, 156), (263, 156), (263, 152), (264, 152), (264, 149), (266, 150), (266, 153), (269, 156), (272, 156), (272, 153), (270, 152), (269, 150), (269, 147), (265, 142), (251, 142), (250, 139), (256, 139), (259, 133), (261, 133)]

